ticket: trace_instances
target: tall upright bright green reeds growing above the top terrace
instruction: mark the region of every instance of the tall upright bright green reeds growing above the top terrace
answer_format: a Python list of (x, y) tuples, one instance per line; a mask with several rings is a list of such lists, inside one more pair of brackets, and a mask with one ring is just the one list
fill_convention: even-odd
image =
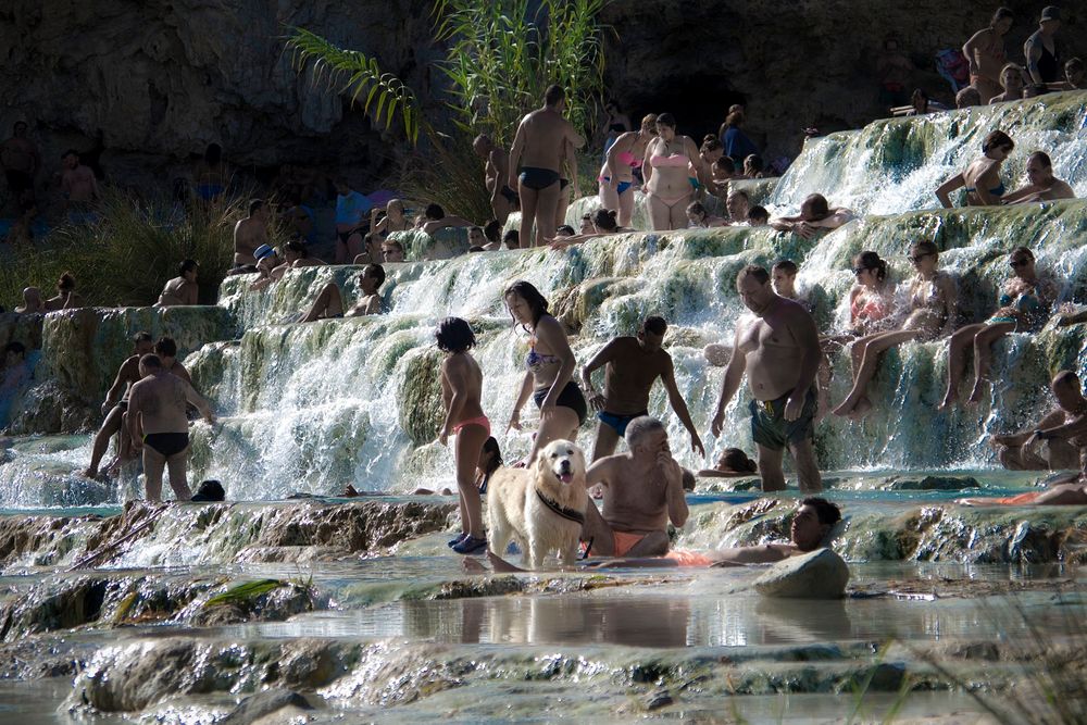
[(603, 91), (602, 26), (607, 0), (438, 0), (437, 39), (448, 41), (442, 71), (464, 134), (513, 142), (521, 118), (548, 86), (566, 90), (570, 121), (591, 135)]

